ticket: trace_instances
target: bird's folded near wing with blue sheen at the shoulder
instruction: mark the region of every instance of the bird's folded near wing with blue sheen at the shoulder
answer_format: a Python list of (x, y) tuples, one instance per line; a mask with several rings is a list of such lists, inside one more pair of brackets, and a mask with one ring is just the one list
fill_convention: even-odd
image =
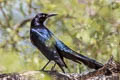
[(42, 45), (44, 45), (44, 47), (46, 47), (46, 49), (48, 49), (48, 51), (50, 51), (50, 53), (52, 53), (52, 55), (50, 55), (50, 56), (54, 57), (55, 62), (57, 64), (59, 64), (60, 66), (66, 67), (63, 57), (56, 50), (56, 47), (54, 45), (55, 40), (49, 34), (49, 32), (45, 33), (45, 31), (43, 31), (43, 30), (36, 30), (36, 29), (32, 29), (31, 32), (32, 32), (32, 34), (36, 34), (36, 35), (34, 35), (34, 36), (36, 36), (35, 38), (37, 38), (36, 44), (39, 46), (39, 43), (41, 42)]

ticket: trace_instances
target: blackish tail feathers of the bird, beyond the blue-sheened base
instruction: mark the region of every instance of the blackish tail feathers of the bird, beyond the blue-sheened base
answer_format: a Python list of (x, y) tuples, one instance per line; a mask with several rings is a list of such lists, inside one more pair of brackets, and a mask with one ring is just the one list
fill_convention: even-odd
[(89, 68), (92, 68), (92, 69), (99, 69), (99, 68), (103, 67), (103, 64), (97, 62), (94, 59), (83, 56), (82, 54), (79, 54), (75, 51), (73, 51), (72, 53), (68, 53), (68, 54), (63, 53), (63, 55), (65, 55), (64, 57), (66, 57), (66, 58), (68, 58), (72, 61), (75, 61), (77, 63), (82, 62), (84, 65), (86, 65), (86, 66), (88, 66)]

